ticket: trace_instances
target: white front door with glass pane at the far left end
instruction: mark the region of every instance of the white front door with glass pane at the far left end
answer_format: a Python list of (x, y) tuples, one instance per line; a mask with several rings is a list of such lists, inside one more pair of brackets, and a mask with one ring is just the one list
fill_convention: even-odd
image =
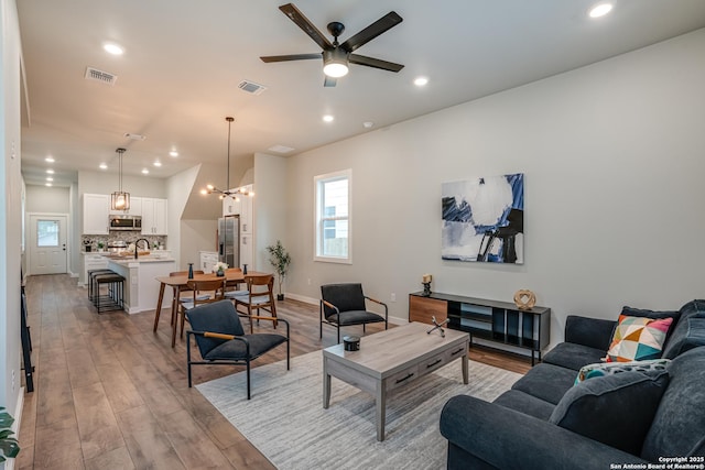
[(30, 216), (29, 274), (66, 272), (66, 216)]

